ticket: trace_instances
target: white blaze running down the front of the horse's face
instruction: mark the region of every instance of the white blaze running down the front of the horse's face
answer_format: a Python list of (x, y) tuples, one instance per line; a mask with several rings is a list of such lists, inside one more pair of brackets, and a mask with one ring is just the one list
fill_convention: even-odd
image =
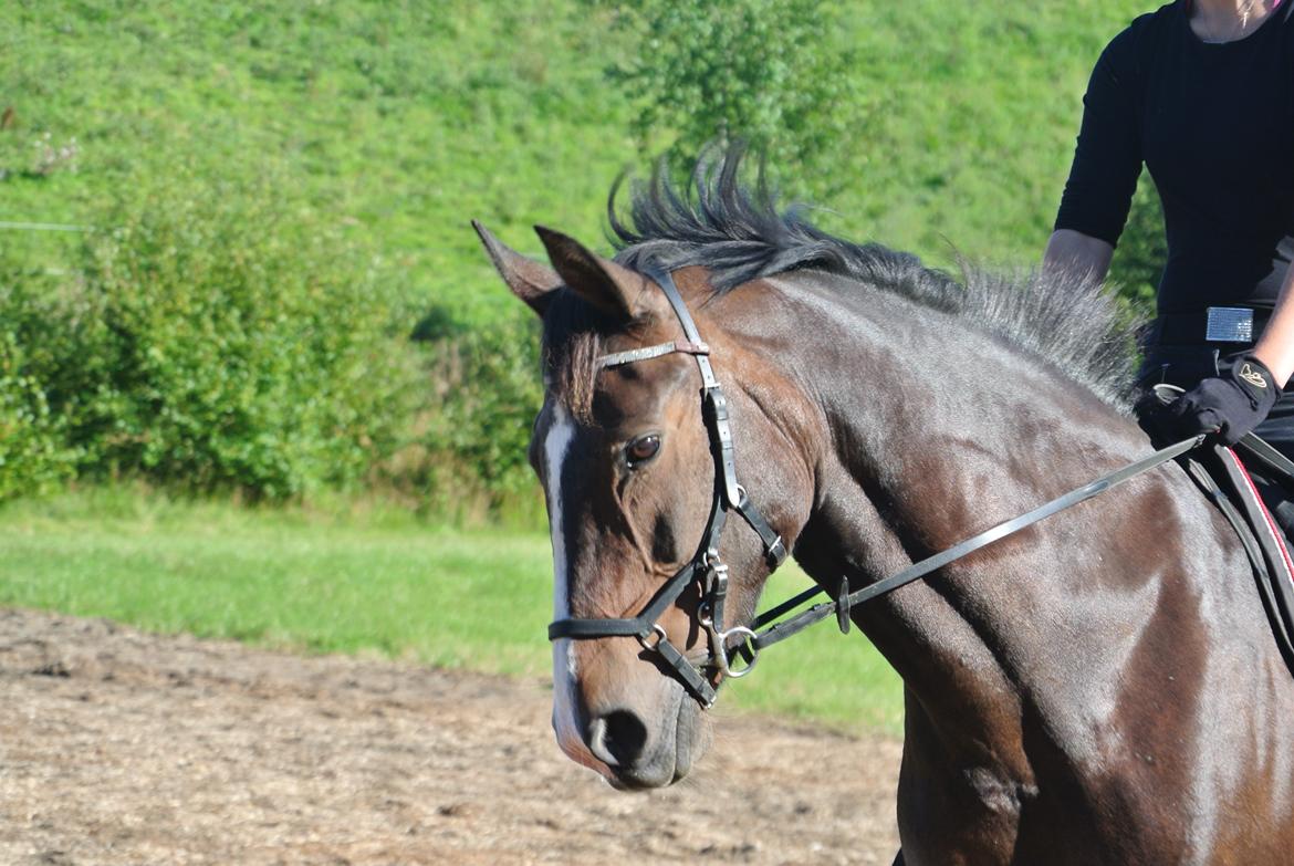
[[(562, 515), (562, 470), (575, 422), (560, 405), (555, 406), (554, 421), (543, 439), (543, 470), (549, 493), (549, 531), (553, 535), (553, 619), (571, 615), (571, 563), (567, 562), (565, 527)], [(584, 735), (575, 717), (576, 660), (569, 638), (553, 642), (553, 725), (558, 742), (568, 753), (584, 751)]]

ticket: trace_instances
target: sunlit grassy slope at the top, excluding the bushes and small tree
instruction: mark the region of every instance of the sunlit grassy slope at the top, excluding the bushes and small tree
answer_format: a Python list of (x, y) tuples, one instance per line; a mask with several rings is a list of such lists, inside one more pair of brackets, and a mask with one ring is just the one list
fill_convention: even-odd
[[(837, 5), (840, 30), (806, 50), (858, 49), (875, 107), (817, 170), (829, 177), (800, 179), (833, 190), (820, 219), (939, 264), (1036, 260), (1092, 63), (1158, 4)], [(329, 215), (415, 303), (488, 321), (512, 302), (468, 217), (523, 251), (540, 252), (534, 223), (598, 245), (612, 179), (644, 162), (635, 106), (606, 70), (648, 49), (611, 26), (612, 6), (3, 4), (0, 111), (14, 114), (0, 220), (93, 224), (132, 177), (177, 161), (212, 175), (274, 164), (300, 212)], [(75, 139), (75, 172), (32, 171), (47, 133)], [(0, 247), (58, 267), (69, 241), (5, 232)]]

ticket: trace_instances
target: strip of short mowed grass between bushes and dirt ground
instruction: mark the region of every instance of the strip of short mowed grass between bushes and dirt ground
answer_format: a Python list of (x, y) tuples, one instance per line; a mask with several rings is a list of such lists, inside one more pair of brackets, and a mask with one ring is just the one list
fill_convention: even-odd
[[(807, 585), (785, 568), (766, 601)], [(79, 494), (0, 509), (0, 605), (309, 652), (549, 676), (546, 535), (427, 528), (400, 514)], [(901, 689), (857, 633), (774, 647), (721, 705), (898, 731)]]

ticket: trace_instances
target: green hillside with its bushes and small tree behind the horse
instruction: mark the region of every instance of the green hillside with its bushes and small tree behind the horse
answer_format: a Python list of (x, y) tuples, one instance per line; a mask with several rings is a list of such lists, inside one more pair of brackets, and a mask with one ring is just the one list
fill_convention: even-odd
[[(21, 412), (47, 418), (22, 425), (21, 478), (45, 479), (25, 489), (57, 487), (75, 470), (265, 496), (317, 496), (320, 485), (373, 478), (401, 491), (423, 485), (443, 501), (463, 485), (496, 507), (533, 501), (515, 447), (537, 408), (533, 334), (518, 331), (524, 316), (468, 217), (532, 255), (534, 223), (597, 246), (607, 189), (635, 150), (639, 161), (672, 144), (682, 154), (727, 132), (766, 146), (784, 190), (829, 206), (817, 215), (829, 230), (936, 265), (1035, 261), (1091, 65), (1150, 5), (0, 4), (0, 220), (123, 229), (83, 243), (0, 228), (3, 471), (19, 478)], [(154, 202), (160, 210), (150, 215)], [(238, 215), (248, 217), (241, 234), (220, 225)], [(190, 230), (199, 224), (207, 228)], [(349, 421), (327, 418), (238, 365), (208, 373), (173, 352), (154, 361), (129, 350), (101, 308), (145, 342), (167, 343), (159, 317), (203, 308), (163, 291), (188, 267), (168, 261), (163, 245), (175, 237), (188, 249), (208, 232), (225, 250), (246, 241), (254, 258), (283, 255), (276, 280), (294, 283), (303, 267), (316, 268), (318, 285), (375, 293), (377, 318), (355, 308), (356, 339), (367, 340), (386, 311), (382, 364), (393, 368), (396, 391), (421, 368), (422, 399), (370, 395), (338, 409)], [(127, 243), (144, 251), (135, 256)], [(148, 282), (150, 261), (162, 282)], [(220, 280), (202, 255), (194, 263), (203, 280)], [(162, 294), (131, 298), (127, 281), (137, 277)], [(309, 346), (256, 312), (261, 291), (234, 293), (242, 300), (230, 303), (245, 304), (239, 315), (252, 326), (241, 331), (233, 312), (221, 321), (229, 339), (246, 340), (230, 351), (273, 377), (296, 377), (292, 388), (329, 392), (324, 370), (254, 348), (273, 333)], [(338, 296), (357, 303), (345, 290)], [(19, 333), (18, 305), (35, 330)], [(402, 335), (428, 311), (448, 325), (409, 344)], [(184, 357), (225, 360), (208, 351), (195, 318), (184, 321), (172, 335)], [(351, 360), (335, 370), (362, 368), (362, 350), (343, 351)], [(127, 366), (109, 369), (118, 360)], [(61, 384), (47, 387), (48, 375)], [(170, 395), (160, 419), (148, 388)], [(219, 400), (233, 410), (219, 414)], [(375, 428), (355, 432), (358, 417)], [(204, 440), (197, 430), (208, 422), (224, 426)], [(342, 444), (322, 443), (326, 425), (349, 431)], [(261, 428), (274, 432), (250, 435)], [(234, 445), (237, 430), (248, 434), (243, 445)], [(247, 474), (246, 484), (236, 474)]]

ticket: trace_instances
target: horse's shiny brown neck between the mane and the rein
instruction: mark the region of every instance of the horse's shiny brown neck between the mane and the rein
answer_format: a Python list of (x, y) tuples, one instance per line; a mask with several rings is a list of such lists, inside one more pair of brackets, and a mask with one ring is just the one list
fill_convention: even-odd
[(820, 412), (819, 488), (862, 492), (906, 554), (951, 546), (1148, 450), (1126, 413), (1044, 359), (875, 289), (844, 304), (823, 282), (785, 295), (800, 326), (791, 361), (776, 364)]

